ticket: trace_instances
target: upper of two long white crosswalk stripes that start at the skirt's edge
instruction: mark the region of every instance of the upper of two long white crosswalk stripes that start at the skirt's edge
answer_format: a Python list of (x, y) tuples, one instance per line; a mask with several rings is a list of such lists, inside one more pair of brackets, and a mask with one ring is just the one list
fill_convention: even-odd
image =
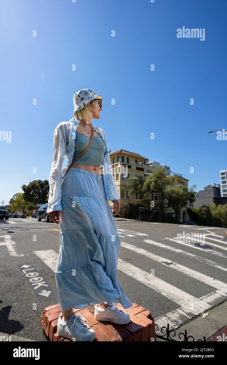
[[(146, 241), (148, 241), (148, 240), (146, 240)], [(121, 246), (125, 247), (128, 250), (134, 251), (140, 255), (149, 257), (152, 260), (159, 262), (160, 264), (162, 264), (164, 266), (166, 266), (167, 264), (171, 264), (171, 262), (172, 262), (171, 260), (168, 260), (165, 257), (155, 255), (140, 247), (130, 245), (130, 243), (121, 242)], [(190, 269), (187, 266), (183, 266), (183, 265), (178, 264), (177, 262), (174, 262), (174, 265), (169, 265), (168, 268), (177, 270), (177, 271), (181, 272), (182, 274), (190, 276), (191, 278), (196, 279), (198, 281), (201, 281), (201, 283), (205, 283), (207, 285), (210, 285), (213, 288), (219, 289), (219, 290), (223, 291), (223, 295), (227, 293), (227, 284), (226, 283), (223, 283), (220, 280), (216, 280), (208, 275), (202, 274), (196, 270)]]

